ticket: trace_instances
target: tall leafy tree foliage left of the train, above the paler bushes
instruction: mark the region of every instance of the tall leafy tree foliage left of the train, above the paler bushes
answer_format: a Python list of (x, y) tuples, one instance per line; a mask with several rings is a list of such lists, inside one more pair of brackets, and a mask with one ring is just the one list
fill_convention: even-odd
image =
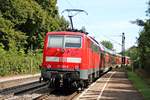
[(13, 42), (14, 47), (36, 49), (46, 32), (65, 30), (68, 23), (59, 16), (56, 3), (57, 0), (0, 0), (0, 42), (6, 49)]

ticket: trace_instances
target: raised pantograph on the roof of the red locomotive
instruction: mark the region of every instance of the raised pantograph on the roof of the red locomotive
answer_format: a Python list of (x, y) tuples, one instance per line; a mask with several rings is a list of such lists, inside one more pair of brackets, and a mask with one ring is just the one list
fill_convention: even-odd
[(78, 13), (80, 12), (84, 12), (86, 15), (88, 15), (88, 13), (84, 10), (81, 10), (81, 9), (65, 9), (64, 11), (62, 11), (62, 13), (64, 12), (68, 12), (68, 17), (69, 17), (69, 20), (70, 20), (70, 24), (71, 24), (71, 29), (73, 30), (73, 20), (72, 18), (74, 16), (76, 16)]

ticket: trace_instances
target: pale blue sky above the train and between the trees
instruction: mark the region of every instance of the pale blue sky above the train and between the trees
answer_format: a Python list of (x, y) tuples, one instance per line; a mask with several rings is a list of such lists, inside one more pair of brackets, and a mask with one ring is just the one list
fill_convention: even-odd
[(122, 33), (125, 33), (125, 48), (137, 45), (136, 38), (142, 27), (131, 24), (136, 19), (145, 20), (148, 0), (57, 0), (59, 13), (67, 20), (65, 9), (82, 9), (73, 17), (73, 25), (77, 29), (86, 28), (89, 35), (100, 42), (110, 41), (116, 52), (121, 51)]

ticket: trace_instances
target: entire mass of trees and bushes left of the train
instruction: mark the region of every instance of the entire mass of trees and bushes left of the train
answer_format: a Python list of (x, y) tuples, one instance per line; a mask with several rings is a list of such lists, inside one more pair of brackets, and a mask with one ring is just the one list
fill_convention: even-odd
[[(39, 71), (39, 51), (45, 34), (68, 27), (56, 3), (57, 0), (0, 0), (0, 76)], [(34, 54), (30, 52), (37, 49), (40, 50)]]

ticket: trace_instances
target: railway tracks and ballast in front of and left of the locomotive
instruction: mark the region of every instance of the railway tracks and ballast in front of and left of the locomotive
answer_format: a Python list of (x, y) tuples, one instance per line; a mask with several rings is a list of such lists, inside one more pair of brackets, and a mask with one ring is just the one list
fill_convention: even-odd
[(0, 100), (73, 100), (77, 95), (77, 91), (51, 89), (48, 88), (48, 83), (39, 81), (0, 90)]

